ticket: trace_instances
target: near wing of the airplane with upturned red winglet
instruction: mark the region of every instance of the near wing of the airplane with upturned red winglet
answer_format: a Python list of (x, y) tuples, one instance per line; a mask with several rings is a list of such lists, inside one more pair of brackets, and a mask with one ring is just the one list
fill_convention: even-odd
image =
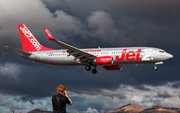
[(60, 45), (61, 47), (67, 49), (67, 52), (69, 53), (69, 55), (74, 56), (76, 59), (80, 59), (81, 62), (84, 62), (86, 60), (94, 60), (96, 58), (95, 55), (89, 54), (85, 51), (82, 51), (76, 47), (73, 47), (71, 45), (68, 45), (64, 42), (61, 42), (57, 39), (54, 39), (53, 36), (50, 34), (50, 32), (47, 30), (47, 28), (44, 28), (46, 35), (48, 37), (48, 39), (58, 45)]

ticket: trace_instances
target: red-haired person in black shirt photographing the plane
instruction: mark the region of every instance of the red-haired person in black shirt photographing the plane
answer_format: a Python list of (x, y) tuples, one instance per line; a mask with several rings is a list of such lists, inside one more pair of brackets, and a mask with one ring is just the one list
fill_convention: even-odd
[(52, 97), (53, 113), (66, 113), (66, 104), (71, 106), (72, 101), (68, 97), (63, 85), (57, 87), (57, 93), (57, 95)]

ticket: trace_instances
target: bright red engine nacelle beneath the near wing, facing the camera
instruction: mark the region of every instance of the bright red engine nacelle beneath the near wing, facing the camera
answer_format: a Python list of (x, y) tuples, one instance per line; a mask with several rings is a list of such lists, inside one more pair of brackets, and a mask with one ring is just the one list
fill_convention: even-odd
[(94, 62), (96, 62), (97, 65), (106, 65), (106, 64), (112, 64), (113, 60), (111, 56), (102, 56), (97, 57)]

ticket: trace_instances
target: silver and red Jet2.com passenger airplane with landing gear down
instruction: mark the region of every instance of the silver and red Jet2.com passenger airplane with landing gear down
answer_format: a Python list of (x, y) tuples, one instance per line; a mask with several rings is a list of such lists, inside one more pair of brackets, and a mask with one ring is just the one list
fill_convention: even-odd
[(154, 47), (117, 47), (117, 48), (87, 48), (79, 49), (59, 41), (51, 35), (47, 28), (48, 39), (65, 48), (54, 50), (42, 46), (24, 24), (18, 24), (23, 50), (5, 46), (19, 54), (22, 58), (33, 62), (57, 66), (85, 66), (87, 71), (97, 73), (97, 66), (108, 71), (122, 70), (124, 64), (154, 64), (157, 70), (160, 64), (173, 58), (173, 55), (163, 49)]

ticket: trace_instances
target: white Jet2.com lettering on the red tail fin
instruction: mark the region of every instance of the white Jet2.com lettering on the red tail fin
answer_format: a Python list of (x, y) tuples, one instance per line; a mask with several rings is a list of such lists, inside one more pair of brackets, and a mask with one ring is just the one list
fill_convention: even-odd
[(33, 37), (33, 35), (31, 34), (31, 32), (29, 32), (25, 26), (20, 27), (20, 30), (26, 36), (26, 38), (31, 42), (31, 44), (36, 48), (36, 50), (39, 51), (41, 47), (39, 43), (36, 41), (36, 39)]

